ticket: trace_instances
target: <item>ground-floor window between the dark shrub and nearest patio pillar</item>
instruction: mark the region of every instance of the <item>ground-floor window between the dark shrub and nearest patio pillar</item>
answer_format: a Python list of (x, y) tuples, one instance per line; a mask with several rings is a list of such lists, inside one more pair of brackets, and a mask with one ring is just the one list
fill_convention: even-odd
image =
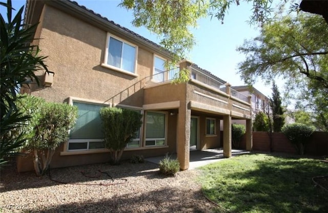
[(147, 112), (146, 114), (146, 146), (166, 144), (166, 113)]

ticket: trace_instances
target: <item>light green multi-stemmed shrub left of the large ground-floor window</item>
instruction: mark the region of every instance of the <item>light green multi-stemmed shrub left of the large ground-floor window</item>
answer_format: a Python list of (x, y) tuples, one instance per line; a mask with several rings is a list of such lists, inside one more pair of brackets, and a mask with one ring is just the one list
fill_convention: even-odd
[(69, 130), (76, 121), (77, 108), (29, 95), (22, 98), (20, 104), (22, 112), (32, 115), (22, 131), (27, 138), (25, 148), (33, 153), (35, 173), (41, 176), (49, 168), (56, 148), (68, 139)]

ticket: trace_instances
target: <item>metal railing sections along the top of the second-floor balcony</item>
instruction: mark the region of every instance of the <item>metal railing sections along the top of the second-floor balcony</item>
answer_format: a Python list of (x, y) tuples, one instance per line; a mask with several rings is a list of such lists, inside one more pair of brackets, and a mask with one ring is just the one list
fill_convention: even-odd
[[(157, 73), (152, 76), (147, 77), (146, 85), (152, 85), (157, 83), (163, 83), (167, 81), (171, 81), (179, 76), (179, 68), (174, 68), (165, 72)], [(201, 83), (207, 84), (208, 86), (211, 86), (213, 88), (219, 89), (222, 92), (226, 91), (226, 85), (224, 85), (222, 82), (216, 80), (215, 78), (202, 73), (196, 69), (191, 68), (190, 72), (190, 78), (199, 81)], [(238, 99), (241, 99), (243, 101), (248, 102), (248, 97), (239, 93), (238, 91), (230, 88), (230, 94)]]

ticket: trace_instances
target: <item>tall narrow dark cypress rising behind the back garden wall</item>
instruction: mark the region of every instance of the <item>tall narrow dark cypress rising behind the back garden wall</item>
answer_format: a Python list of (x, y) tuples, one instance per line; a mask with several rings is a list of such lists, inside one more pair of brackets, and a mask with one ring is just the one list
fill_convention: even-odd
[(270, 98), (270, 107), (272, 111), (273, 132), (281, 132), (285, 124), (285, 110), (282, 108), (280, 92), (275, 82), (272, 83), (272, 97)]

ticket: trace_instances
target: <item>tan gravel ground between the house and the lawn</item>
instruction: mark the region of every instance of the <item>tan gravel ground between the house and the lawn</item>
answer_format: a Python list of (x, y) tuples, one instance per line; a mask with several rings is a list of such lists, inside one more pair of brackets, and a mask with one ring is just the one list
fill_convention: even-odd
[(211, 212), (215, 206), (202, 195), (198, 175), (193, 169), (165, 177), (148, 162), (51, 169), (59, 182), (5, 169), (0, 207), (3, 212)]

